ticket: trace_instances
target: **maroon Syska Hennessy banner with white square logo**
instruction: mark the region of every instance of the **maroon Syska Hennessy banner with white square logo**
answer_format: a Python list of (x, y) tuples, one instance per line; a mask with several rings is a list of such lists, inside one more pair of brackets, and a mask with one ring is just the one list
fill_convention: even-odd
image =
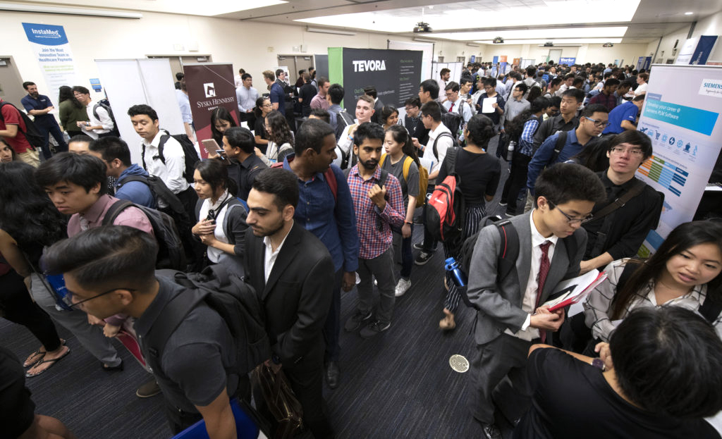
[[(191, 101), (191, 114), (199, 145), (212, 139), (211, 113), (215, 108), (228, 110), (238, 126), (238, 102), (235, 97), (235, 81), (232, 64), (186, 64), (183, 66)], [(219, 145), (221, 146), (221, 145)], [(205, 148), (199, 148), (201, 157), (206, 157)]]

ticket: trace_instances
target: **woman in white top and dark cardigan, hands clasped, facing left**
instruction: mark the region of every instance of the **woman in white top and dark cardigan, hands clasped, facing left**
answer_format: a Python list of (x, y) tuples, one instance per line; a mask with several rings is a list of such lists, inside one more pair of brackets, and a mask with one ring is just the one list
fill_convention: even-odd
[(230, 258), (243, 265), (247, 213), (235, 198), (237, 188), (228, 178), (227, 167), (219, 160), (201, 160), (193, 173), (198, 203), (193, 235), (208, 246), (206, 256), (211, 264)]

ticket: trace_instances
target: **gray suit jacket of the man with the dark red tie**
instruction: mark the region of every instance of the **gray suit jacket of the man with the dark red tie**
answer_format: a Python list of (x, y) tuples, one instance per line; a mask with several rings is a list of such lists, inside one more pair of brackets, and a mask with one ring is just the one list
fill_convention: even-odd
[[(498, 228), (490, 225), (479, 232), (479, 239), (474, 245), (474, 256), (471, 258), (468, 292), (471, 303), (479, 307), (474, 334), (477, 344), (491, 342), (505, 329), (516, 332), (526, 321), (527, 313), (521, 309), (521, 304), (531, 270), (530, 214), (531, 212), (527, 212), (510, 220), (519, 235), (519, 257), (516, 268), (510, 271), (506, 279), (497, 279), (497, 259), (501, 244)], [(540, 303), (547, 300), (560, 281), (579, 275), (579, 263), (584, 255), (586, 239), (586, 230), (580, 227), (573, 235), (557, 241)], [(574, 261), (567, 258), (568, 240), (577, 241)]]

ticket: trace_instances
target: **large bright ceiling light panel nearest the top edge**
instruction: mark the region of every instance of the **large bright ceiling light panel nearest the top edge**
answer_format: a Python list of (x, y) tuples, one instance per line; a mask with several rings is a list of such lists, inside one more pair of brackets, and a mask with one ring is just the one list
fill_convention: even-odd
[[(565, 25), (579, 22), (580, 17), (589, 24), (629, 22), (634, 17), (640, 0), (568, 0), (545, 1), (544, 6), (500, 6), (496, 11), (477, 9), (446, 9), (433, 14), (427, 11), (424, 21), (433, 30), (468, 29), (469, 27), (505, 28), (520, 26)], [(461, 3), (468, 6), (469, 3)], [(448, 5), (447, 5), (448, 6)], [(593, 11), (591, 14), (586, 12)], [(416, 12), (418, 12), (416, 14)], [(315, 25), (356, 27), (379, 32), (410, 32), (422, 19), (421, 8), (391, 9), (380, 12), (359, 12), (355, 14), (327, 15), (296, 19), (297, 22)], [(575, 30), (576, 28), (572, 28)], [(575, 36), (578, 36), (575, 35)], [(604, 36), (604, 35), (595, 35)], [(614, 35), (617, 36), (617, 35)]]

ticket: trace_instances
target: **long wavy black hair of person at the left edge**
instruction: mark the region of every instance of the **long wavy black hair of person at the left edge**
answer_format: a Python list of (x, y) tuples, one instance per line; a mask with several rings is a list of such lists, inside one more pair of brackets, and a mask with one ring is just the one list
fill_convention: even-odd
[(51, 245), (66, 236), (68, 218), (35, 182), (34, 172), (27, 163), (0, 163), (0, 227), (20, 248)]

